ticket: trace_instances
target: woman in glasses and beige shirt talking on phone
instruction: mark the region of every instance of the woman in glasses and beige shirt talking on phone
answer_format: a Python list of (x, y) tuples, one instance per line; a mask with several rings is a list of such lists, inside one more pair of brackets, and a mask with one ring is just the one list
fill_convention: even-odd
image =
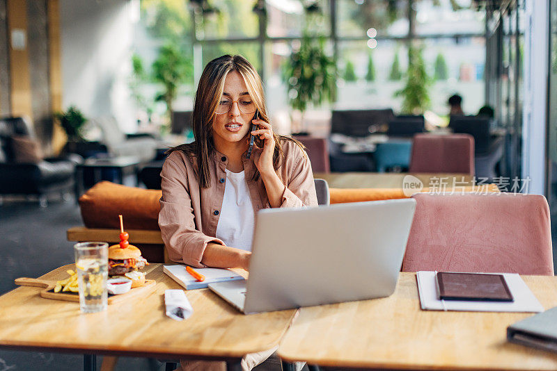
[[(273, 133), (260, 76), (242, 56), (207, 64), (192, 119), (195, 141), (170, 149), (162, 167), (159, 226), (168, 257), (248, 270), (258, 210), (317, 205), (310, 161), (299, 142)], [(256, 140), (247, 158), (250, 135)], [(242, 368), (251, 370), (273, 351), (246, 355)], [(222, 362), (181, 365), (224, 368)]]

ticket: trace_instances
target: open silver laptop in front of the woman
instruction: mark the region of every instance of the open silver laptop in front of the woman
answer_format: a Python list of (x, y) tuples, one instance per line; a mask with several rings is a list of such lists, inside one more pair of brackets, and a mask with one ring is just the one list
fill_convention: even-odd
[(414, 199), (259, 211), (247, 281), (209, 288), (249, 314), (391, 295)]

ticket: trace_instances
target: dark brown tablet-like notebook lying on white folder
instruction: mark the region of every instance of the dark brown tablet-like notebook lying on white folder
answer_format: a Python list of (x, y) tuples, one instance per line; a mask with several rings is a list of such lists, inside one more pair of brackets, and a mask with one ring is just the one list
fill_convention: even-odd
[(512, 302), (503, 274), (437, 272), (439, 299)]

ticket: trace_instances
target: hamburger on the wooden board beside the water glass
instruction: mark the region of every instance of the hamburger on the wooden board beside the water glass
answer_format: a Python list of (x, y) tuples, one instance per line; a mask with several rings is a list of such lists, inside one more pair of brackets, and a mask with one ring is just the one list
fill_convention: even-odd
[(124, 249), (120, 245), (109, 247), (109, 276), (125, 276), (132, 280), (132, 288), (143, 286), (145, 274), (138, 270), (148, 265), (141, 250), (134, 245)]

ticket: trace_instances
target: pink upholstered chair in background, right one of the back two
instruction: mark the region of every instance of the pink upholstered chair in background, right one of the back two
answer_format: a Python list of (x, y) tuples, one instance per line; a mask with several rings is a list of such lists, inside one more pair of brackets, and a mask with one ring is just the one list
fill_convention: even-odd
[(474, 174), (474, 138), (469, 134), (416, 134), (409, 172)]

